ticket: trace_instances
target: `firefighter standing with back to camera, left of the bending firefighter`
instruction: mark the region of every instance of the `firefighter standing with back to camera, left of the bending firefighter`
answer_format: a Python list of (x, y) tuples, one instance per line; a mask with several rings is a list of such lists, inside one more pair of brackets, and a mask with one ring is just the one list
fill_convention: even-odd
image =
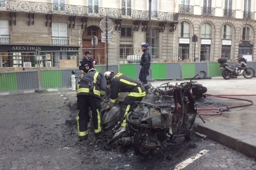
[(79, 113), (76, 116), (79, 140), (88, 138), (89, 107), (92, 111), (94, 134), (96, 138), (102, 135), (102, 122), (100, 114), (101, 96), (105, 95), (107, 82), (102, 73), (91, 68), (79, 81), (77, 98)]

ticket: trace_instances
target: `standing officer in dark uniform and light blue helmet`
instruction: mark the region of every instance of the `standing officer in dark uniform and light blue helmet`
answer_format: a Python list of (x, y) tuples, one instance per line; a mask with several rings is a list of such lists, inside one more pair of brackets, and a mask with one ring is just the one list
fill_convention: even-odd
[(143, 83), (143, 85), (148, 86), (148, 80), (147, 76), (149, 75), (149, 69), (150, 69), (150, 52), (148, 50), (148, 43), (143, 42), (141, 45), (141, 50), (143, 51), (143, 54), (140, 59), (140, 65), (142, 66), (140, 69), (140, 75), (139, 79)]

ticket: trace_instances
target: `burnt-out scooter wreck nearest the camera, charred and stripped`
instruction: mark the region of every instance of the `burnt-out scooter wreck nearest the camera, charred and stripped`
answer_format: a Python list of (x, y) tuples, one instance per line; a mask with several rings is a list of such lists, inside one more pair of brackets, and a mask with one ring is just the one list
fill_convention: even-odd
[[(206, 73), (200, 71), (196, 76), (203, 79)], [(127, 128), (117, 131), (109, 142), (122, 145), (132, 143), (135, 152), (147, 155), (151, 150), (161, 149), (164, 142), (177, 137), (192, 139), (197, 108), (186, 87), (184, 84), (168, 86), (172, 91), (173, 105), (136, 102), (138, 107), (127, 115)]]

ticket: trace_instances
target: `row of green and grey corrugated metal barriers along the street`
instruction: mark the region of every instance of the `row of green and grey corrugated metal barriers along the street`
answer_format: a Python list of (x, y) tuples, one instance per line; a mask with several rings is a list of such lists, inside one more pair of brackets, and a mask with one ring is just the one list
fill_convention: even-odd
[[(207, 73), (207, 77), (221, 76), (218, 62), (172, 62), (152, 63), (148, 79), (179, 79), (194, 77), (199, 71)], [(247, 62), (247, 67), (256, 70), (256, 62)], [(104, 73), (106, 65), (96, 65), (95, 68)], [(109, 65), (108, 70), (115, 73), (121, 72), (134, 79), (139, 79), (140, 64)], [(43, 69), (40, 71), (41, 83), (38, 83), (38, 71), (9, 71), (0, 72), (0, 92), (30, 90), (40, 88), (71, 87), (71, 71), (79, 71), (78, 68)], [(78, 80), (76, 80), (78, 82)]]

